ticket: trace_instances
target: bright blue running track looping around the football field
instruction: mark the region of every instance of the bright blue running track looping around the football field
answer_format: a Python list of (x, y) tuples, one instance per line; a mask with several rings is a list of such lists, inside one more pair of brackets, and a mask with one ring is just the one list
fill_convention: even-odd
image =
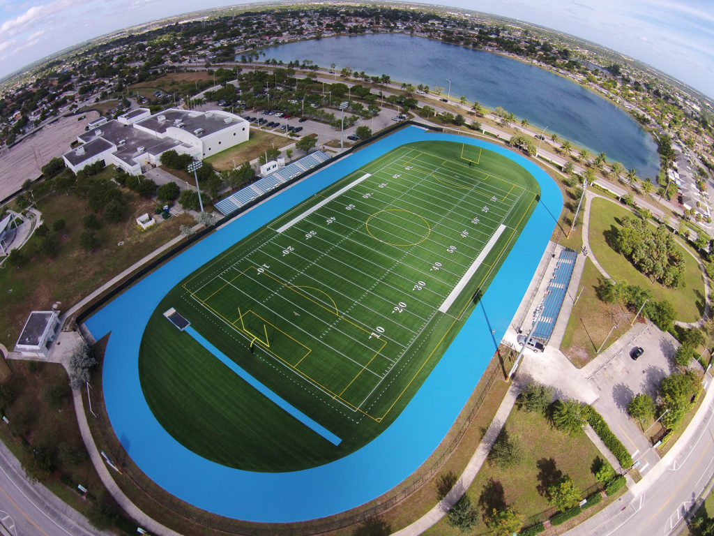
[[(219, 252), (363, 164), (403, 144), (429, 140), (468, 143), (512, 159), (540, 184), (540, 202), (479, 306), (401, 415), (351, 455), (295, 472), (236, 470), (206, 460), (174, 440), (146, 404), (138, 366), (146, 323), (166, 293)], [(562, 207), (558, 186), (533, 162), (508, 149), (453, 134), (410, 126), (338, 160), (209, 235), (87, 319), (85, 325), (95, 339), (111, 332), (102, 377), (116, 436), (136, 465), (164, 490), (226, 517), (311, 520), (379, 497), (411, 475), (450, 430), (493, 356), (496, 341), (516, 314)]]

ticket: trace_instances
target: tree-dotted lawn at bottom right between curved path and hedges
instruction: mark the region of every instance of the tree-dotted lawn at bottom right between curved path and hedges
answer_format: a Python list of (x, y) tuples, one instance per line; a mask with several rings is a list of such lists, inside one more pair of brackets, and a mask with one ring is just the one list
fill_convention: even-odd
[[(570, 475), (582, 496), (595, 491), (598, 482), (592, 467), (602, 456), (585, 434), (565, 435), (555, 430), (543, 415), (517, 407), (508, 416), (505, 430), (521, 446), (521, 460), (508, 469), (489, 462), (481, 467), (467, 493), (482, 515), (493, 508), (502, 510), (513, 505), (521, 519), (528, 519), (528, 525), (544, 520), (556, 510), (548, 503), (544, 490), (565, 475)], [(488, 532), (483, 520), (471, 530), (471, 534), (483, 532)], [(450, 527), (444, 517), (424, 534), (457, 536), (461, 532)]]

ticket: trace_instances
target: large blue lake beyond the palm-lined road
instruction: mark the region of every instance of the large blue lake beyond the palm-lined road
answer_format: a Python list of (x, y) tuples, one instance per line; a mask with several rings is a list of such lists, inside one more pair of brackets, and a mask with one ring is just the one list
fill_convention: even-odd
[(311, 59), (336, 69), (388, 74), (395, 81), (430, 88), (446, 96), (465, 95), (493, 109), (501, 106), (548, 133), (557, 133), (591, 154), (605, 152), (641, 179), (657, 177), (657, 146), (625, 111), (575, 82), (522, 61), (463, 46), (402, 34), (367, 34), (298, 41), (265, 49), (266, 59)]

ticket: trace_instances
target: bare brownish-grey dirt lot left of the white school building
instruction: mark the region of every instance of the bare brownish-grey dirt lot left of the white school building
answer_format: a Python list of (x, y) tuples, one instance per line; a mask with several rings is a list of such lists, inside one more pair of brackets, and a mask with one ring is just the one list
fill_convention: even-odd
[(0, 154), (0, 199), (17, 192), (27, 179), (39, 177), (41, 167), (69, 151), (69, 144), (84, 134), (89, 121), (99, 117), (96, 111), (82, 115), (81, 121), (77, 121), (81, 115), (61, 117)]

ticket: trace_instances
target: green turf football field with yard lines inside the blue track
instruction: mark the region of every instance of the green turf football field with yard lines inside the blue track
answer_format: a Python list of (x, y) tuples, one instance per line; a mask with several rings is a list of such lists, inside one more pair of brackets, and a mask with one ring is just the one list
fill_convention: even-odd
[[(144, 394), (203, 457), (298, 470), (378, 435), (438, 362), (540, 192), (510, 159), (453, 142), (407, 144), (336, 179), (208, 261), (151, 317)], [(172, 307), (339, 445), (179, 332), (164, 317)]]

